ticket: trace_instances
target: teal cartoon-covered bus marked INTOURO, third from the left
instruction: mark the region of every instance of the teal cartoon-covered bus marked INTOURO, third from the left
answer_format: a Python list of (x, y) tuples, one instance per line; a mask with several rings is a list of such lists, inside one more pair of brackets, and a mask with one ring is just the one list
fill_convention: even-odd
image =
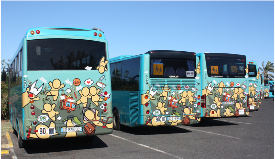
[(245, 55), (199, 53), (201, 69), (201, 117), (246, 116), (248, 65)]

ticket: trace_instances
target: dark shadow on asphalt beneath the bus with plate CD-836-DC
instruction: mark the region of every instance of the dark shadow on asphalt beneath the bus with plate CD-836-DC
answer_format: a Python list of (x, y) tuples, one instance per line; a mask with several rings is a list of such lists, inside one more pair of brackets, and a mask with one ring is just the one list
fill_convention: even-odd
[(24, 145), (24, 149), (28, 154), (39, 154), (108, 147), (97, 136), (95, 136), (93, 142), (91, 141), (91, 136), (76, 138), (58, 138), (48, 140), (32, 140), (27, 142), (26, 146)]

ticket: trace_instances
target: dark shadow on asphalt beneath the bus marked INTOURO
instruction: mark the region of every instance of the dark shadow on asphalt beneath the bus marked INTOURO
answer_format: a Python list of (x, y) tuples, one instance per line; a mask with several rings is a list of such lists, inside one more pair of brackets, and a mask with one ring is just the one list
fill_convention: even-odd
[[(222, 120), (222, 119), (221, 119)], [(208, 120), (203, 120), (199, 124), (194, 124), (194, 125), (187, 125), (190, 127), (212, 127), (212, 126), (228, 126), (228, 125), (238, 125), (234, 124), (230, 121), (219, 121), (219, 119), (208, 119)]]

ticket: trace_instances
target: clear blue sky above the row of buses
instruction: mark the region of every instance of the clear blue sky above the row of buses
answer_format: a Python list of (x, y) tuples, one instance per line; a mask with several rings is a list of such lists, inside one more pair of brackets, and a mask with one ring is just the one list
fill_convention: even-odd
[(109, 58), (149, 50), (246, 55), (274, 62), (273, 1), (1, 1), (1, 60), (27, 29), (98, 27)]

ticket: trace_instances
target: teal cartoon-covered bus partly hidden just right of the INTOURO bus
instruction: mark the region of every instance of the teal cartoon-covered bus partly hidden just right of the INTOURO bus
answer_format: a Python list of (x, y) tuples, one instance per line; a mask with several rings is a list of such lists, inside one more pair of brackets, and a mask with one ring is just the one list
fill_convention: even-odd
[(259, 110), (260, 107), (260, 93), (261, 93), (261, 79), (260, 70), (257, 62), (247, 61), (248, 63), (248, 107), (249, 110)]

